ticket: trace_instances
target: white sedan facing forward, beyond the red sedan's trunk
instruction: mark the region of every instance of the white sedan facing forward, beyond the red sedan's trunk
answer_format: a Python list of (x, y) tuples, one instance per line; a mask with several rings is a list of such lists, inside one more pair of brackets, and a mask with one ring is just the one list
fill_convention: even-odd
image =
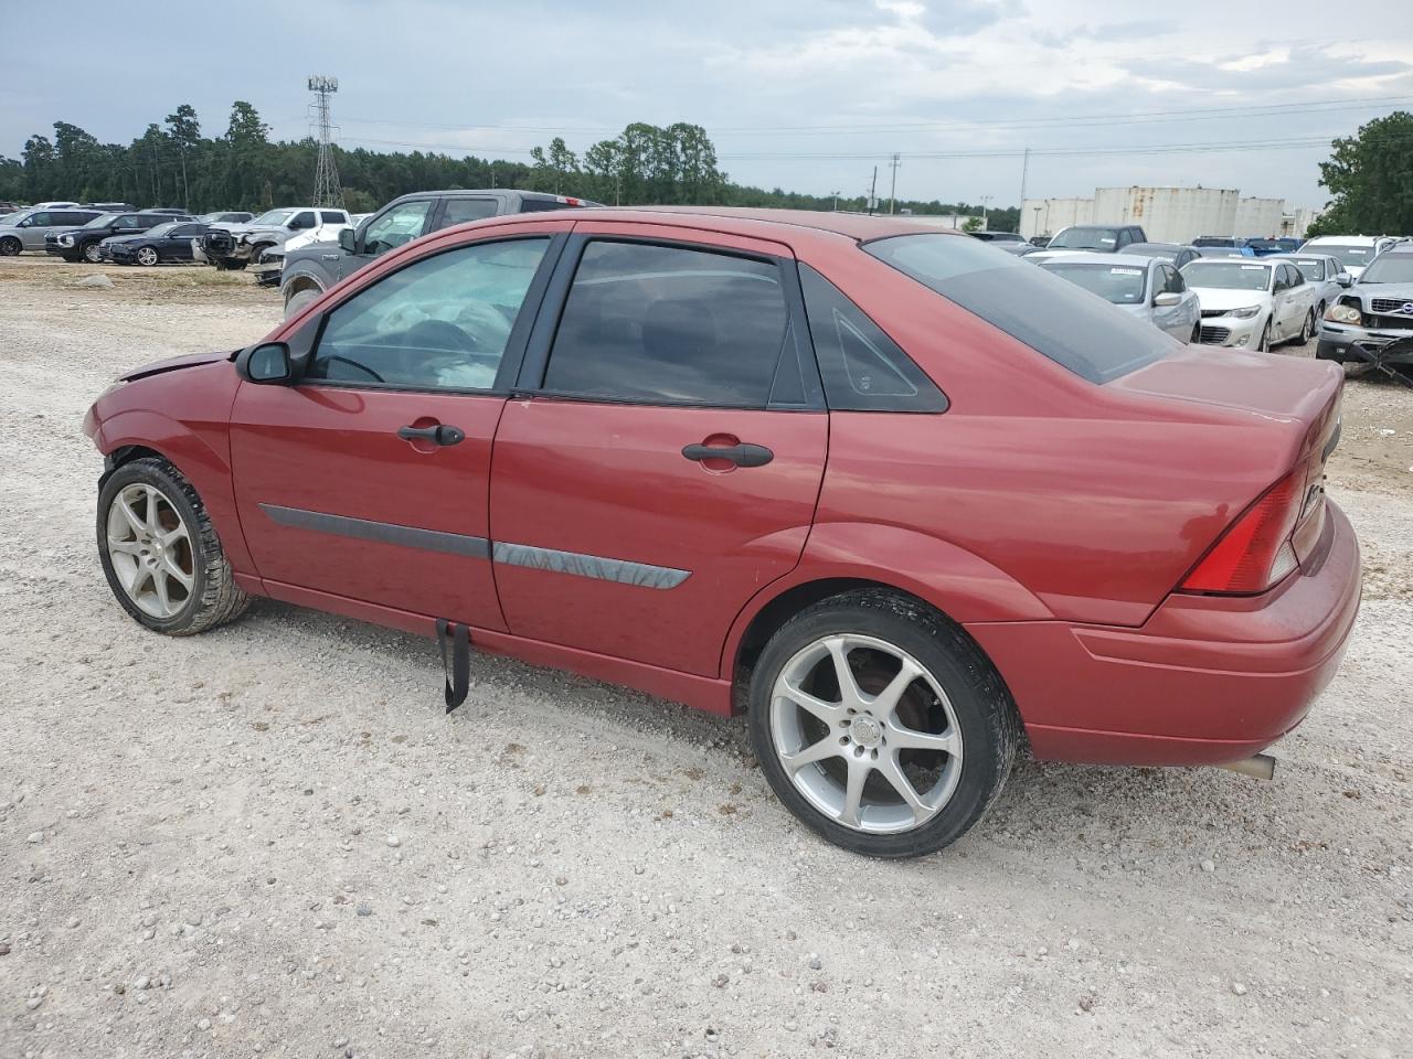
[(1316, 288), (1289, 261), (1200, 257), (1183, 278), (1202, 304), (1204, 345), (1266, 352), (1316, 330)]

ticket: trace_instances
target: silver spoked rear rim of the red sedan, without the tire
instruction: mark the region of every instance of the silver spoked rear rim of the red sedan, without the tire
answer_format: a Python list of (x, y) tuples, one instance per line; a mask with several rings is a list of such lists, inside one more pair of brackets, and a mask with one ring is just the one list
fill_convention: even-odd
[(859, 832), (921, 827), (961, 779), (961, 724), (937, 678), (875, 637), (827, 635), (797, 651), (771, 690), (770, 734), (796, 789)]

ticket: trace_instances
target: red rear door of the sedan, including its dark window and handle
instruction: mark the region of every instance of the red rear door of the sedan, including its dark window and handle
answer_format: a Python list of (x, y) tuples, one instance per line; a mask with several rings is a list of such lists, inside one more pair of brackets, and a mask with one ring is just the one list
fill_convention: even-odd
[(824, 472), (793, 275), (777, 243), (575, 226), (496, 435), (512, 633), (718, 675), (731, 621), (798, 562)]

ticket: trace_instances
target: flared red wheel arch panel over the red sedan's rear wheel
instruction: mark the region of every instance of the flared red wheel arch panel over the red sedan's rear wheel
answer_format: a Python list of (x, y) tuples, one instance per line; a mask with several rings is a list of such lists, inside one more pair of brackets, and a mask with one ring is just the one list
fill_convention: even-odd
[(762, 610), (793, 589), (834, 579), (907, 592), (959, 624), (1054, 617), (1005, 570), (940, 537), (896, 525), (817, 522), (796, 568), (757, 592), (736, 616), (722, 650), (722, 678), (733, 675), (740, 642)]

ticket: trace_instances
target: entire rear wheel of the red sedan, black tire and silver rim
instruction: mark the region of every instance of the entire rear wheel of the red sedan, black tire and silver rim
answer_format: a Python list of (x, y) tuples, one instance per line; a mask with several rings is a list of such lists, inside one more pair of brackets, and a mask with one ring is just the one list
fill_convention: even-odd
[[(839, 690), (841, 655), (862, 696)], [(897, 688), (907, 664), (918, 672)], [(834, 596), (781, 626), (760, 652), (749, 703), (776, 796), (825, 840), (869, 857), (920, 857), (959, 839), (995, 803), (1020, 743), (1015, 703), (981, 650), (920, 602), (882, 589)], [(801, 751), (805, 764), (790, 768), (783, 755)]]

